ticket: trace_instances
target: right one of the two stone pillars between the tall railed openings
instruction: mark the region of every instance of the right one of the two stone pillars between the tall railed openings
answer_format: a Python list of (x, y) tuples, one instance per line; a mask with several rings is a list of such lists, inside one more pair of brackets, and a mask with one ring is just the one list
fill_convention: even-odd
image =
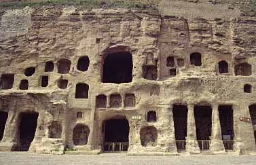
[(219, 120), (218, 105), (213, 105), (212, 111), (212, 136), (211, 136), (211, 151), (225, 152), (223, 141), (221, 138), (221, 123)]

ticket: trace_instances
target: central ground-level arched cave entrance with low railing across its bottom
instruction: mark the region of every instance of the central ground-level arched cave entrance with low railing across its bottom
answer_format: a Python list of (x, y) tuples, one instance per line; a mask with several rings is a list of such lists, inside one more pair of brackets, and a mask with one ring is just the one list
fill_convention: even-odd
[(104, 151), (128, 151), (129, 122), (112, 119), (103, 122)]

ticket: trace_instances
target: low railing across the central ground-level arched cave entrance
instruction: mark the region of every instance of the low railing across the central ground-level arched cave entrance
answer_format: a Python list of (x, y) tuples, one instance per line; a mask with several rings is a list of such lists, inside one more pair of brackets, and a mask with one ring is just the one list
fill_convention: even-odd
[(103, 143), (105, 152), (122, 152), (128, 151), (129, 143)]

